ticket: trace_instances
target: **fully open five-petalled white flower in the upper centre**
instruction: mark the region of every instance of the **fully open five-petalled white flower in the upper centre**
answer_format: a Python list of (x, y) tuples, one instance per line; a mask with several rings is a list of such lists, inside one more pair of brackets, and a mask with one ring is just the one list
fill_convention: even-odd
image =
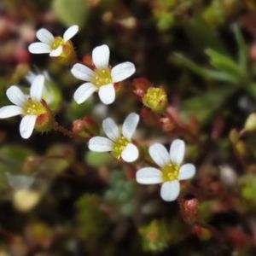
[(115, 99), (113, 84), (129, 78), (135, 73), (135, 66), (131, 62), (123, 62), (110, 69), (109, 48), (106, 44), (93, 49), (92, 61), (96, 67), (94, 70), (79, 63), (71, 69), (75, 78), (87, 82), (79, 86), (73, 98), (80, 104), (98, 90), (101, 101), (106, 105), (111, 104)]

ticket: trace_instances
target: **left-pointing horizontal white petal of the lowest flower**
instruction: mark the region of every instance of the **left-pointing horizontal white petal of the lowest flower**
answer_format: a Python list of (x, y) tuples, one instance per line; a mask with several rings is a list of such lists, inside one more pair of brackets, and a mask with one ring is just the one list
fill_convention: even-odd
[(137, 183), (159, 184), (162, 183), (162, 172), (153, 167), (145, 167), (136, 173)]

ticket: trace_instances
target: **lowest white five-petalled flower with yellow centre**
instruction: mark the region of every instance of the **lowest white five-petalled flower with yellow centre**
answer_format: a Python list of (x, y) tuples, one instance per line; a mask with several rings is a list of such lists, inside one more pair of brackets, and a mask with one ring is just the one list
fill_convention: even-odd
[(149, 154), (160, 169), (145, 167), (136, 173), (137, 183), (158, 184), (162, 183), (160, 196), (164, 201), (174, 201), (180, 192), (180, 180), (191, 178), (195, 175), (195, 166), (185, 164), (181, 166), (185, 154), (185, 143), (176, 139), (172, 142), (170, 154), (166, 148), (155, 143), (150, 146)]

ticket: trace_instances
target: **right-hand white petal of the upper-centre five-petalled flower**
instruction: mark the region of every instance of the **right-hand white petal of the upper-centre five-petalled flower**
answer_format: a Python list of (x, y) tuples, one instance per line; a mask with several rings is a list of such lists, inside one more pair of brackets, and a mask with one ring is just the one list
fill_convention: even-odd
[(135, 66), (131, 62), (121, 63), (111, 70), (113, 83), (123, 81), (135, 73)]

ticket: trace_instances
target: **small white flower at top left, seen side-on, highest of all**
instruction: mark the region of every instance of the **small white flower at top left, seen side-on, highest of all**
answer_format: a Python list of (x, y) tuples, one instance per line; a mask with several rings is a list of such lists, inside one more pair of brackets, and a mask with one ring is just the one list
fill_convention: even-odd
[(37, 38), (41, 42), (32, 43), (28, 46), (28, 50), (32, 54), (49, 53), (51, 57), (58, 57), (61, 55), (63, 46), (79, 31), (79, 26), (73, 25), (67, 28), (64, 32), (63, 38), (54, 37), (51, 32), (45, 28), (41, 28), (36, 33)]

